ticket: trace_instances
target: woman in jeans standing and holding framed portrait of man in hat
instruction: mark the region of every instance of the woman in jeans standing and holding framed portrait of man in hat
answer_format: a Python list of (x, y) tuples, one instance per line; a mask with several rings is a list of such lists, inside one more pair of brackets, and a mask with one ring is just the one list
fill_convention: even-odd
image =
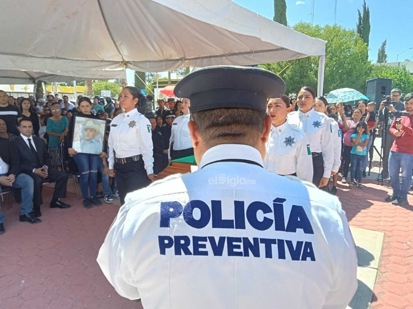
[[(96, 197), (98, 169), (101, 161), (106, 163), (104, 128), (106, 121), (92, 114), (92, 102), (88, 97), (79, 99), (81, 113), (70, 119), (66, 146), (79, 169), (79, 184), (83, 195), (83, 206), (91, 208), (102, 202)], [(108, 174), (107, 178), (108, 178)], [(104, 177), (102, 173), (102, 178)], [(109, 179), (107, 179), (109, 182)], [(90, 193), (90, 194), (89, 194)]]

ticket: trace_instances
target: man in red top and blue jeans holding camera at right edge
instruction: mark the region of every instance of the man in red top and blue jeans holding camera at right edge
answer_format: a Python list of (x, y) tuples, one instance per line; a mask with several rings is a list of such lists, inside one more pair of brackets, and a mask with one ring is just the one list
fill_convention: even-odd
[[(404, 99), (405, 111), (394, 112), (390, 134), (394, 136), (394, 143), (390, 149), (388, 167), (390, 184), (393, 194), (385, 198), (393, 205), (406, 205), (407, 193), (412, 185), (413, 168), (413, 93), (407, 94)], [(402, 170), (402, 185), (400, 187), (399, 172)]]

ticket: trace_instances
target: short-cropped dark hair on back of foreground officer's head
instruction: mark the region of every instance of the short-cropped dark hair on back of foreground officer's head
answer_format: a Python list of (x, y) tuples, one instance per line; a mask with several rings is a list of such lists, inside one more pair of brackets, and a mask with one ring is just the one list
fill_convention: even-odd
[(261, 136), (266, 113), (248, 108), (216, 108), (191, 114), (204, 142), (255, 145)]

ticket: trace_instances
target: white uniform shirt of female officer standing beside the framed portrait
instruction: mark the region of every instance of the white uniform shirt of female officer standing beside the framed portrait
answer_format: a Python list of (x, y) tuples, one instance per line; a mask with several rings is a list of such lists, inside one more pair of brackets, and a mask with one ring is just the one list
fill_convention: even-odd
[(151, 122), (137, 111), (116, 116), (110, 122), (108, 140), (109, 169), (113, 168), (116, 158), (142, 155), (147, 174), (154, 173), (154, 144), (152, 143)]

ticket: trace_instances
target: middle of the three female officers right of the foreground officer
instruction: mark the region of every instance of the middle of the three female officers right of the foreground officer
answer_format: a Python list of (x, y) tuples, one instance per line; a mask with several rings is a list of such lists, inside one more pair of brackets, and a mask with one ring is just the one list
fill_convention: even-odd
[(302, 87), (297, 95), (299, 110), (288, 114), (288, 123), (307, 134), (312, 154), (312, 183), (321, 190), (328, 191), (334, 164), (330, 121), (326, 115), (313, 110), (314, 103), (314, 90), (311, 87)]

